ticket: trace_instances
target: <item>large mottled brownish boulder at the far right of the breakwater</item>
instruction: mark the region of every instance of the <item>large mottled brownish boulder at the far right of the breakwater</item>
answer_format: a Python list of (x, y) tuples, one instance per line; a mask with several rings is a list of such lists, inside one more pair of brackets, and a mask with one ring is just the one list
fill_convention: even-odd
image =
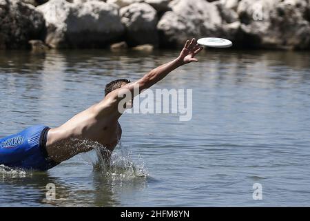
[(246, 46), (256, 48), (310, 48), (307, 0), (242, 0), (238, 15)]

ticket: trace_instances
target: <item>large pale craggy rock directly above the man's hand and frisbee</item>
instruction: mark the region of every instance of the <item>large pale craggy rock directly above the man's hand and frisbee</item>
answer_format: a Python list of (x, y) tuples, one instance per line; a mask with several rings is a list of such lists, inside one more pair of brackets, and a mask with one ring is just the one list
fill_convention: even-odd
[(169, 7), (172, 11), (165, 12), (157, 25), (162, 46), (183, 45), (192, 37), (218, 36), (222, 31), (222, 18), (214, 3), (174, 0)]

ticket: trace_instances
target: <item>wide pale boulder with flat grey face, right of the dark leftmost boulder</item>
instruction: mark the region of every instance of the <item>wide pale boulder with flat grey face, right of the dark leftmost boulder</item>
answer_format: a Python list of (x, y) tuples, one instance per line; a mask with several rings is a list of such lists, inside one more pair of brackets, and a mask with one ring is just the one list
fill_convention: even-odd
[(118, 6), (112, 3), (50, 0), (37, 10), (45, 17), (45, 43), (52, 48), (105, 47), (125, 31)]

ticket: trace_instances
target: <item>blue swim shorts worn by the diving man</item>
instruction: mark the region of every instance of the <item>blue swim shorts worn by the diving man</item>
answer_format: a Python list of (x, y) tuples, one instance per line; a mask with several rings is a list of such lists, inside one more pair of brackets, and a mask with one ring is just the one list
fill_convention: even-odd
[(48, 126), (36, 125), (0, 139), (0, 165), (47, 171), (58, 163), (46, 151)]

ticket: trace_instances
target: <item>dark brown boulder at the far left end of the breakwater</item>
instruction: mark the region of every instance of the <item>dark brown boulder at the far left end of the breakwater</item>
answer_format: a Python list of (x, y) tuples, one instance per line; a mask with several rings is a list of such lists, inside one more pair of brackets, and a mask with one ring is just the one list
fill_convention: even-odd
[(28, 41), (40, 39), (45, 30), (43, 15), (18, 0), (0, 0), (0, 21), (0, 49), (28, 48)]

